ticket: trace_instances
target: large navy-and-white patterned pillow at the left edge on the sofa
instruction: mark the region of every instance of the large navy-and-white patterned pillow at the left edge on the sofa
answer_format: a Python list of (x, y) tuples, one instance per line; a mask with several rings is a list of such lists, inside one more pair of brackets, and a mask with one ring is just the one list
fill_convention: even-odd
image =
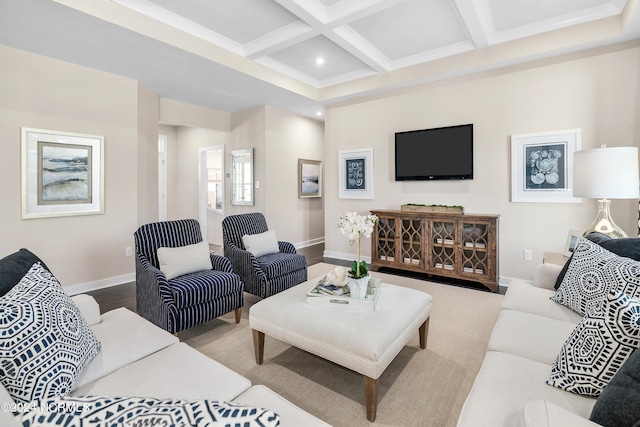
[(100, 342), (53, 275), (34, 264), (0, 298), (0, 381), (16, 402), (64, 396)]

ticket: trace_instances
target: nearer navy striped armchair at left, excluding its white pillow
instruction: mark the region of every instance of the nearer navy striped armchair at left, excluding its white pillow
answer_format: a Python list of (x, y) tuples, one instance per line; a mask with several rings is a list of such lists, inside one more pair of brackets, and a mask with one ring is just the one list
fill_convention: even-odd
[(136, 310), (145, 319), (176, 334), (235, 310), (240, 322), (244, 286), (229, 260), (211, 254), (212, 270), (167, 280), (160, 271), (158, 248), (202, 242), (195, 219), (146, 224), (134, 233), (136, 247)]

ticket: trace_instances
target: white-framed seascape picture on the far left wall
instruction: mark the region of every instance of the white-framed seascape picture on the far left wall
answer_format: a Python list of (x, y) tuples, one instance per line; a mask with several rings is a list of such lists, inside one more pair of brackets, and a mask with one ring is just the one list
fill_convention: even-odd
[(104, 137), (22, 128), (22, 218), (104, 213)]

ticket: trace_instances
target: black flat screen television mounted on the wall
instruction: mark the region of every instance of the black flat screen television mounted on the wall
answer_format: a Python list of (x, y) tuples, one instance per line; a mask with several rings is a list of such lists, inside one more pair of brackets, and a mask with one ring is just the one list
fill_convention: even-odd
[(396, 181), (473, 179), (473, 124), (397, 132)]

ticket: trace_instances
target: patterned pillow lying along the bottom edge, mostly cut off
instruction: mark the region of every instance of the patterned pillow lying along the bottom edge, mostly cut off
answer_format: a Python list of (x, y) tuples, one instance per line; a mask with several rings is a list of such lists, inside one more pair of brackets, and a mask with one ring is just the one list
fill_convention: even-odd
[(34, 402), (14, 414), (23, 426), (242, 426), (276, 427), (269, 410), (212, 400), (141, 397), (64, 397)]

